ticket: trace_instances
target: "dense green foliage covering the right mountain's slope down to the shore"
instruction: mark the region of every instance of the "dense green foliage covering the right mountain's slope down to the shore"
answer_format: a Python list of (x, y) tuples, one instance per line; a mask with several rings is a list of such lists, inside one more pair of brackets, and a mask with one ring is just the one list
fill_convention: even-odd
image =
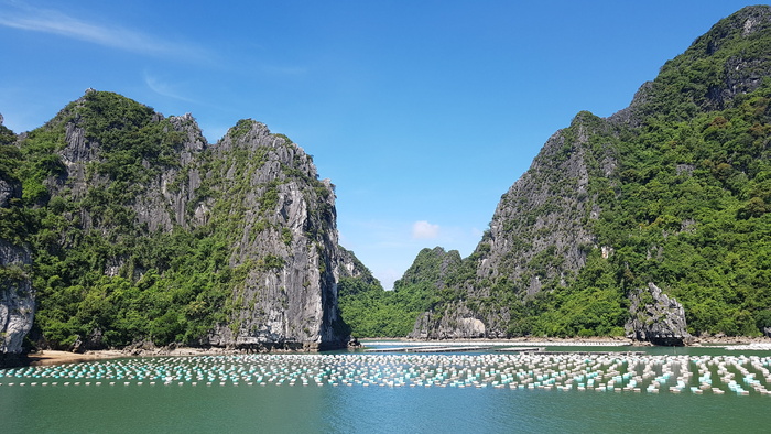
[[(610, 145), (619, 165), (590, 181), (602, 213), (588, 220), (596, 245), (586, 265), (526, 295), (530, 279), (479, 281), (478, 249), (449, 278), (455, 290), (436, 292), (436, 310), (465, 297), (481, 317), (508, 312), (509, 336), (622, 335), (627, 295), (655, 282), (683, 303), (695, 335), (760, 334), (771, 307), (771, 82), (723, 110), (652, 116), (593, 143)], [(560, 260), (546, 249), (526, 265), (539, 274)]]

